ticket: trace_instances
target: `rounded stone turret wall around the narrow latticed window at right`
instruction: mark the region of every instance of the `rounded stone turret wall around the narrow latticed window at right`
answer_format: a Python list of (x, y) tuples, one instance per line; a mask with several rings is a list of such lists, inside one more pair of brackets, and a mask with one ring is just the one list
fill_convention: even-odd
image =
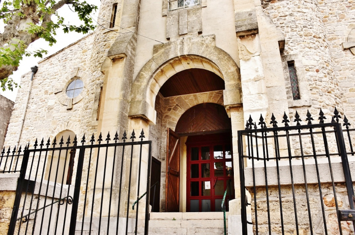
[(291, 118), (296, 109), (302, 114), (309, 109), (313, 115), (319, 113), (320, 107), (326, 115), (334, 111), (334, 106), (342, 111), (341, 95), (334, 72), (336, 61), (332, 60), (330, 54), (326, 26), (323, 23), (323, 10), (320, 9), (323, 2), (262, 0), (264, 13), (284, 34), (285, 46), (281, 56), (287, 55), (291, 58), (291, 55), (294, 55), (302, 58), (303, 68), (297, 69), (304, 69), (307, 89), (311, 94), (310, 105), (289, 107)]

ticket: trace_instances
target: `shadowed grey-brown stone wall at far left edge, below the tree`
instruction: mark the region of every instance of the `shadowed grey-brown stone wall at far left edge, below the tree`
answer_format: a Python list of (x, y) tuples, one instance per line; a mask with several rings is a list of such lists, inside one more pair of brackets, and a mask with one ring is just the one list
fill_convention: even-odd
[(7, 126), (9, 125), (10, 122), (10, 117), (12, 110), (14, 108), (14, 102), (11, 101), (10, 99), (7, 99), (3, 96), (0, 95), (0, 110), (1, 110), (1, 115), (0, 115), (0, 149), (2, 149), (2, 146), (4, 144), (6, 132), (7, 132)]

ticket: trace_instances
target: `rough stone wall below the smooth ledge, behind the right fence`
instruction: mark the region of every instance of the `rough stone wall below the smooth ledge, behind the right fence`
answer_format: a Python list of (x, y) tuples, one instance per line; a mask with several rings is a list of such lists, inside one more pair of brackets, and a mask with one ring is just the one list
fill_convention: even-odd
[[(328, 234), (339, 234), (337, 223), (337, 211), (335, 205), (335, 198), (333, 194), (332, 184), (322, 184), (322, 201), (320, 201), (320, 194), (318, 184), (308, 184), (309, 204), (311, 209), (311, 218), (314, 234), (324, 234), (323, 217), (320, 203), (324, 203), (325, 219), (327, 224)], [(336, 184), (337, 202), (339, 209), (348, 209), (349, 202), (347, 191), (344, 183)], [(253, 189), (248, 188), (251, 194), (251, 218), (253, 221), (253, 232), (255, 234), (255, 203)], [(282, 208), (284, 220), (284, 234), (296, 234), (295, 212), (292, 197), (292, 188), (290, 185), (281, 186), (282, 192)], [(279, 190), (277, 186), (268, 187), (268, 201), (269, 212), (271, 220), (272, 234), (282, 234), (281, 216), (280, 216), (280, 202)], [(295, 185), (297, 218), (300, 235), (310, 234), (309, 216), (307, 209), (307, 199), (304, 185)], [(256, 205), (258, 217), (258, 232), (261, 235), (268, 234), (268, 219), (267, 219), (267, 203), (265, 187), (256, 188)], [(353, 234), (353, 225), (351, 221), (341, 222), (343, 234)]]

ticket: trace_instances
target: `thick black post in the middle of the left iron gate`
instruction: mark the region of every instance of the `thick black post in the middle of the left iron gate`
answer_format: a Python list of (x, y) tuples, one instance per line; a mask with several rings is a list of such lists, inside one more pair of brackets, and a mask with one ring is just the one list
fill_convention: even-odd
[[(69, 227), (69, 235), (75, 234), (76, 227), (76, 217), (78, 213), (78, 204), (79, 204), (79, 196), (80, 196), (80, 184), (81, 184), (81, 176), (83, 174), (83, 165), (84, 165), (84, 155), (85, 155), (85, 147), (80, 147), (79, 157), (78, 157), (78, 167), (76, 170), (75, 177), (75, 186), (74, 186), (74, 195), (73, 202), (71, 208), (71, 221)], [(90, 166), (88, 166), (90, 167)], [(83, 215), (85, 216), (85, 215)]]

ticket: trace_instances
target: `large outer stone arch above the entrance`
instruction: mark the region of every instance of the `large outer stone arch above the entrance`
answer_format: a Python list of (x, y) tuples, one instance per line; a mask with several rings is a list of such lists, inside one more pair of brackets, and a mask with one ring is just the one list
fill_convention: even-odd
[(214, 36), (156, 45), (154, 53), (133, 82), (129, 116), (155, 123), (154, 104), (160, 87), (174, 74), (190, 68), (207, 69), (224, 79), (225, 106), (242, 103), (239, 68), (227, 52), (215, 46)]

